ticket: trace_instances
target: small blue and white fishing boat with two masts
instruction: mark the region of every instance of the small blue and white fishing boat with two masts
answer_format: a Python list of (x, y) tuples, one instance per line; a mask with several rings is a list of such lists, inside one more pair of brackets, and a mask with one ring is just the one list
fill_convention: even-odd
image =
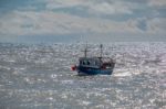
[(77, 75), (111, 75), (114, 69), (115, 61), (111, 57), (103, 57), (103, 45), (100, 45), (100, 56), (87, 56), (87, 45), (84, 56), (79, 58), (79, 64), (71, 67)]

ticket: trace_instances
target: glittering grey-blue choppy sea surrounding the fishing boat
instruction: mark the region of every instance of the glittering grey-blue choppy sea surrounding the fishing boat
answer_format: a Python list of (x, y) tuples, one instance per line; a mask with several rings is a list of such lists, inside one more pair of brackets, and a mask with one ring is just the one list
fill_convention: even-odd
[(0, 109), (166, 109), (166, 43), (104, 44), (111, 76), (70, 69), (84, 46), (0, 43)]

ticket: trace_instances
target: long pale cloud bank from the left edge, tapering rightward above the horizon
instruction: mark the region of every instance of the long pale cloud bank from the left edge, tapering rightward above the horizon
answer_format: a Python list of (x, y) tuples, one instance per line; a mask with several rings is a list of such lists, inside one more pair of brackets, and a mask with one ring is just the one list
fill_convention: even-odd
[(52, 11), (12, 11), (0, 19), (0, 33), (8, 35), (139, 31), (134, 21), (115, 22), (103, 19), (80, 18)]

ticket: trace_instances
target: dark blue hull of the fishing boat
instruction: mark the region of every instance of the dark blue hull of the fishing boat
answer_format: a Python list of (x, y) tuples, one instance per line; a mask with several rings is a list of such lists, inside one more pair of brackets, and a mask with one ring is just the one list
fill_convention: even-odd
[(112, 75), (113, 68), (101, 69), (91, 67), (77, 67), (79, 75)]

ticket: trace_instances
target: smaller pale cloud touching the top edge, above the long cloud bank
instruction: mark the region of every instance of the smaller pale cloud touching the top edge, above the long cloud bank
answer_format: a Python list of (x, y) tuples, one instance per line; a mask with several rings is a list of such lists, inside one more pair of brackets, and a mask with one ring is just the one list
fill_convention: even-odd
[(46, 9), (53, 10), (59, 8), (72, 8), (72, 7), (84, 7), (91, 14), (131, 14), (128, 3), (124, 2), (106, 2), (106, 1), (94, 1), (94, 0), (51, 0), (45, 1)]

